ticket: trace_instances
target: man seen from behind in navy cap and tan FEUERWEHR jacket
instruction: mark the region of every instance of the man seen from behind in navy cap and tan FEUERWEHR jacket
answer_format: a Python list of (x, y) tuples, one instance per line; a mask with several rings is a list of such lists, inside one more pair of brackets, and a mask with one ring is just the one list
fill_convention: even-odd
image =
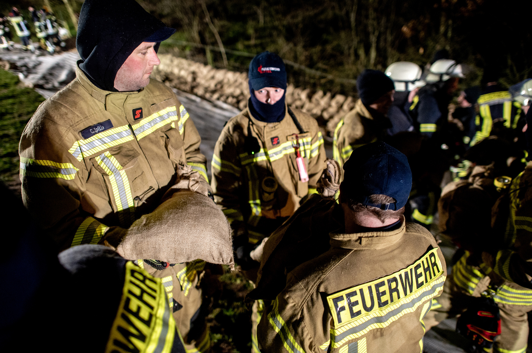
[[(360, 147), (344, 172), (340, 204), (330, 206), (340, 212), (323, 218), (340, 228), (321, 234), (330, 238), (328, 250), (287, 268), (286, 287), (257, 329), (263, 353), (423, 350), (423, 316), (442, 290), (446, 265), (434, 237), (402, 215), (412, 184), (406, 156), (375, 142)], [(278, 246), (284, 238), (290, 234)]]

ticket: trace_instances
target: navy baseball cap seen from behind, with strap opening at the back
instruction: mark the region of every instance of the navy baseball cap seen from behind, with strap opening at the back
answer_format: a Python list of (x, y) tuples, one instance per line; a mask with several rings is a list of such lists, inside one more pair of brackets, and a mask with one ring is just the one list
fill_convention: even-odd
[[(385, 142), (357, 148), (344, 164), (343, 192), (363, 205), (396, 211), (408, 201), (412, 171), (408, 158)], [(395, 203), (373, 204), (371, 195), (393, 197)]]

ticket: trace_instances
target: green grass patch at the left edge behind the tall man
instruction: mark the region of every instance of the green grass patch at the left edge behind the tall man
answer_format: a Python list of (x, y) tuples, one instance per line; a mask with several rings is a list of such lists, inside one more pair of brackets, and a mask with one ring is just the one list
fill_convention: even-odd
[(0, 69), (0, 180), (19, 173), (19, 141), (30, 117), (44, 97), (22, 87), (17, 75)]

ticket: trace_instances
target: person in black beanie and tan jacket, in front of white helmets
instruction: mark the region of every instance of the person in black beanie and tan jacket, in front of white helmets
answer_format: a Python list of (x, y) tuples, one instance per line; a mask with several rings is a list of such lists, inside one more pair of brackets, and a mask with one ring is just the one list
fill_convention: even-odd
[(336, 125), (332, 152), (342, 166), (353, 150), (381, 140), (392, 124), (386, 117), (394, 102), (394, 81), (384, 72), (366, 69), (356, 79), (360, 99)]

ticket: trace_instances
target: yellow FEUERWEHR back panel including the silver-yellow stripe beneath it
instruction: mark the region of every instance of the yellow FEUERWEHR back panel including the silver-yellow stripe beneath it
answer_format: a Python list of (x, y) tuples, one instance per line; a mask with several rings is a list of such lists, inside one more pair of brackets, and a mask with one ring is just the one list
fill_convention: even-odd
[(445, 276), (437, 248), (403, 270), (327, 297), (334, 320), (332, 348), (384, 328), (436, 297)]

